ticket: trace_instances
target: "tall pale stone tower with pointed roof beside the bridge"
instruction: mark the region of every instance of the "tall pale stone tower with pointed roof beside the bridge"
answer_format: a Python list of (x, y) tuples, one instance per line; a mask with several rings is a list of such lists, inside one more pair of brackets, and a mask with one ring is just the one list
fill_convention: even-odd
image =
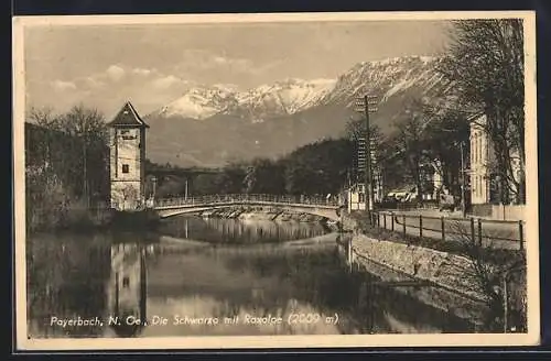
[(145, 129), (149, 125), (129, 101), (108, 125), (111, 208), (127, 211), (143, 209)]

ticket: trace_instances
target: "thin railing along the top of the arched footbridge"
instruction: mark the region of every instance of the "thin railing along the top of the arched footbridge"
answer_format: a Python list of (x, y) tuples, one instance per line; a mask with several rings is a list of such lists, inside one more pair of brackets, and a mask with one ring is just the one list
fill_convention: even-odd
[(338, 200), (323, 196), (293, 196), (293, 195), (267, 195), (267, 194), (223, 194), (204, 195), (194, 197), (174, 197), (155, 199), (155, 207), (172, 206), (194, 206), (213, 205), (227, 203), (271, 203), (271, 204), (296, 204), (312, 206), (334, 206), (337, 207)]

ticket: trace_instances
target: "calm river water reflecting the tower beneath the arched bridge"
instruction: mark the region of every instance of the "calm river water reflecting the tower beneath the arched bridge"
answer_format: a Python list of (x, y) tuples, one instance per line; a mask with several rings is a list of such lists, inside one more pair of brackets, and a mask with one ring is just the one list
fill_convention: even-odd
[(31, 338), (467, 332), (350, 272), (321, 223), (174, 217), (154, 233), (28, 238)]

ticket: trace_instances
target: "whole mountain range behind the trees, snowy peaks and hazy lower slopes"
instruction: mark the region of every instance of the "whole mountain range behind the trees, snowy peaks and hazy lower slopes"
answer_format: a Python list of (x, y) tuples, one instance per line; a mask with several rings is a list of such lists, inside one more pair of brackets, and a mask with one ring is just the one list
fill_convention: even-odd
[(233, 85), (197, 86), (144, 117), (148, 156), (180, 166), (220, 166), (277, 157), (320, 139), (345, 134), (361, 117), (358, 97), (376, 96), (370, 121), (383, 133), (403, 121), (414, 100), (445, 89), (437, 57), (407, 56), (356, 64), (336, 79), (283, 79), (240, 91)]

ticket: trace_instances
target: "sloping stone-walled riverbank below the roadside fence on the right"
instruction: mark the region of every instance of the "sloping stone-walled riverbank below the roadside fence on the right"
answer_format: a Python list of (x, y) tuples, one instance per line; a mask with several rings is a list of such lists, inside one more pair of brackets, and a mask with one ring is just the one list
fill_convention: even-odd
[(415, 243), (379, 232), (349, 215), (343, 217), (343, 228), (352, 231), (349, 261), (357, 267), (370, 274), (386, 270), (385, 280), (389, 280), (390, 272), (433, 285), (418, 288), (415, 298), (484, 328), (503, 330), (505, 317), (512, 328), (526, 328), (526, 270), (520, 267), (507, 280), (507, 296), (504, 296), (504, 270), (522, 264), (518, 252), (497, 252), (496, 256), (494, 250), (483, 252), (457, 244), (446, 249), (450, 244), (442, 243), (435, 249), (422, 240)]

